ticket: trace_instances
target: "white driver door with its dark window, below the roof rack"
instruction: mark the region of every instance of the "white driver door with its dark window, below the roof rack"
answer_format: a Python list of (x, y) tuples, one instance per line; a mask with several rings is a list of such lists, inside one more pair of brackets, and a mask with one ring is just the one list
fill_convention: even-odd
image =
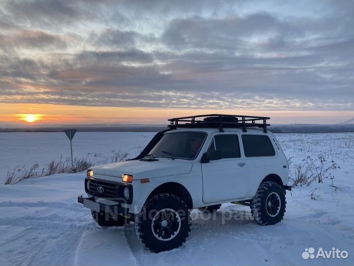
[(208, 150), (220, 152), (221, 159), (202, 164), (203, 202), (210, 203), (246, 196), (248, 189), (247, 166), (241, 157), (239, 135), (218, 133)]

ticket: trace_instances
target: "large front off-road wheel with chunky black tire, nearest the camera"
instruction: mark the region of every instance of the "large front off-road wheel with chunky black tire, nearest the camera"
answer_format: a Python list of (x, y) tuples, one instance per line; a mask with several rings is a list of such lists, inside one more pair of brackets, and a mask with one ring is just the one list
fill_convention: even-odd
[[(165, 213), (172, 216), (168, 219), (161, 218)], [(162, 226), (164, 220), (168, 221), (165, 227)], [(157, 253), (182, 246), (189, 235), (190, 226), (187, 205), (177, 196), (164, 193), (148, 199), (136, 218), (135, 231), (142, 245)], [(162, 240), (164, 237), (165, 240)]]

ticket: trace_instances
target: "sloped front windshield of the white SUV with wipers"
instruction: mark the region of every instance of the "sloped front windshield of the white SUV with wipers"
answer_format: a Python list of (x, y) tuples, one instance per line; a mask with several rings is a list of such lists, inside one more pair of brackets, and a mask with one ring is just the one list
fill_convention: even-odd
[(148, 153), (155, 157), (194, 159), (202, 147), (207, 133), (176, 132), (164, 134)]

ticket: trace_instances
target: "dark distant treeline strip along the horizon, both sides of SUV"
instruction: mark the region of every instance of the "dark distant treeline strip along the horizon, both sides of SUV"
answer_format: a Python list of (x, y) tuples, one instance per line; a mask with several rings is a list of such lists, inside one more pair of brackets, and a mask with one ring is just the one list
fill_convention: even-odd
[[(64, 129), (76, 128), (79, 132), (159, 132), (167, 129), (165, 126), (69, 126), (43, 128), (2, 128), (0, 132), (62, 132)], [(268, 127), (272, 133), (345, 133), (354, 132), (354, 125), (273, 125)]]

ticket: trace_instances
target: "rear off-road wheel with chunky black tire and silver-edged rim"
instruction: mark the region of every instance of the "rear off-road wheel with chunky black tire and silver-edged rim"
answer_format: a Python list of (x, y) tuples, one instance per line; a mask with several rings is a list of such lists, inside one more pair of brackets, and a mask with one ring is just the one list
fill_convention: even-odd
[[(280, 206), (270, 203), (272, 197)], [(268, 201), (268, 202), (267, 202)], [(286, 207), (284, 189), (273, 181), (263, 182), (251, 201), (251, 213), (259, 225), (274, 225), (283, 220)], [(269, 214), (270, 213), (270, 214)], [(273, 216), (272, 216), (273, 215)]]

